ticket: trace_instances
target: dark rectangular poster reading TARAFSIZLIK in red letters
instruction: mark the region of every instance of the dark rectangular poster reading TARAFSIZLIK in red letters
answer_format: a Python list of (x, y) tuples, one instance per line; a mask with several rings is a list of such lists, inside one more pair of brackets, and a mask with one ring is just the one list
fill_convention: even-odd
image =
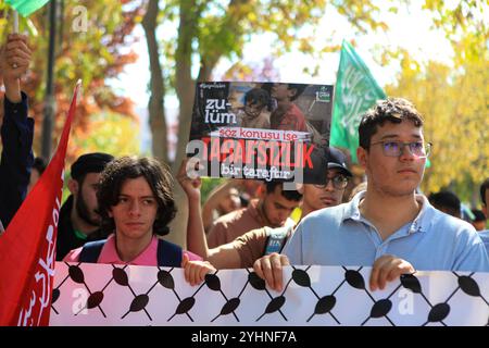
[(321, 182), (333, 86), (199, 83), (187, 153), (201, 176)]

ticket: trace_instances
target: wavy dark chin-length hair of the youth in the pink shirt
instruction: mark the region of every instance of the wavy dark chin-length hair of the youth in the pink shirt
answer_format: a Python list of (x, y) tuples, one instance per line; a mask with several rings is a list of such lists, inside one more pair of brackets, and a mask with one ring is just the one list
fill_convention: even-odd
[(173, 179), (166, 167), (147, 157), (122, 157), (110, 162), (103, 170), (97, 191), (98, 213), (102, 217), (103, 232), (114, 232), (115, 222), (109, 216), (109, 211), (117, 204), (124, 182), (141, 176), (148, 182), (158, 202), (153, 234), (159, 236), (168, 234), (167, 224), (175, 217), (177, 211), (173, 197)]

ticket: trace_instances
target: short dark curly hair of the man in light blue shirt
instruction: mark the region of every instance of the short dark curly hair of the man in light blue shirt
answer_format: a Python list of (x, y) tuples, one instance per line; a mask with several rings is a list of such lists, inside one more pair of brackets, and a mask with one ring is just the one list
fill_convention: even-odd
[(376, 105), (369, 109), (360, 121), (360, 146), (367, 150), (378, 126), (383, 126), (386, 122), (399, 124), (404, 120), (412, 121), (416, 127), (423, 126), (423, 116), (411, 101), (403, 98), (377, 101)]

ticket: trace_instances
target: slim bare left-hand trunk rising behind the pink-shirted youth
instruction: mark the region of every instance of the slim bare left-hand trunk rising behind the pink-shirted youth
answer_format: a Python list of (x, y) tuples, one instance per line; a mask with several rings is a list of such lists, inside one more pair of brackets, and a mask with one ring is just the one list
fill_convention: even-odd
[(159, 0), (150, 0), (142, 20), (148, 53), (150, 60), (150, 99), (148, 102), (149, 124), (152, 134), (152, 153), (160, 162), (168, 163), (166, 121), (165, 121), (165, 85), (160, 64), (160, 54), (156, 41), (156, 17), (160, 11)]

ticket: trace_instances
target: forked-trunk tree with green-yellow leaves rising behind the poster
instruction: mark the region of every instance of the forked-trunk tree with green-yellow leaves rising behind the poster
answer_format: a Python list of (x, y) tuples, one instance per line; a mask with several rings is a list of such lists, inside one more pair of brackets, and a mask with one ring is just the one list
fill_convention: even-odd
[[(254, 34), (268, 33), (276, 37), (276, 45), (271, 47), (272, 55), (280, 55), (285, 51), (300, 50), (302, 52), (326, 51), (330, 42), (325, 47), (313, 47), (315, 35), (310, 30), (308, 35), (301, 28), (314, 28), (324, 16), (326, 5), (336, 8), (344, 15), (352, 27), (359, 33), (369, 29), (386, 28), (380, 20), (375, 20), (379, 11), (369, 1), (359, 3), (354, 0), (334, 1), (296, 1), (296, 0), (229, 0), (204, 1), (185, 0), (166, 1), (160, 10), (165, 24), (178, 25), (176, 37), (166, 35), (160, 46), (161, 54), (155, 49), (154, 30), (158, 28), (159, 17), (154, 11), (159, 10), (158, 0), (149, 0), (143, 21), (147, 34), (150, 64), (151, 87), (150, 115), (160, 120), (151, 120), (153, 141), (153, 154), (166, 162), (166, 134), (164, 113), (161, 111), (162, 102), (170, 92), (176, 94), (179, 101), (179, 128), (178, 146), (175, 162), (172, 164), (173, 173), (176, 173), (181, 159), (185, 156), (185, 147), (188, 140), (193, 92), (196, 80), (210, 79), (212, 72), (220, 59), (242, 57), (244, 44), (252, 39)], [(166, 34), (166, 33), (165, 33)], [(161, 67), (161, 61), (165, 66)], [(192, 66), (199, 66), (197, 74), (192, 74)], [(186, 204), (183, 191), (176, 190), (177, 206), (183, 214), (186, 213)], [(185, 231), (185, 219), (176, 219), (174, 229)], [(179, 244), (185, 244), (184, 235), (171, 235)]]

